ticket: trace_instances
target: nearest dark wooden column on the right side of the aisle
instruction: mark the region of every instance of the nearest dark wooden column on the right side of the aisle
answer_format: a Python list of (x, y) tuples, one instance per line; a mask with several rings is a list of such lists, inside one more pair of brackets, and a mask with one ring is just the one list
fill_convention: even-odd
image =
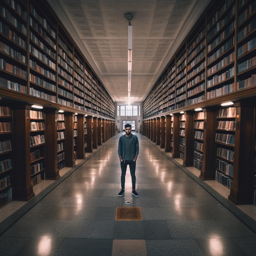
[(235, 204), (253, 202), (254, 105), (248, 99), (235, 102), (236, 132), (233, 186), (229, 200)]

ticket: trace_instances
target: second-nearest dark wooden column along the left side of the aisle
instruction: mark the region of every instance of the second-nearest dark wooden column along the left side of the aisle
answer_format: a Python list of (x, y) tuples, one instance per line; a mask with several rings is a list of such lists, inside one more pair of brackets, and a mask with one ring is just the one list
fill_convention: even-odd
[(45, 179), (60, 177), (57, 164), (57, 114), (56, 109), (45, 109)]

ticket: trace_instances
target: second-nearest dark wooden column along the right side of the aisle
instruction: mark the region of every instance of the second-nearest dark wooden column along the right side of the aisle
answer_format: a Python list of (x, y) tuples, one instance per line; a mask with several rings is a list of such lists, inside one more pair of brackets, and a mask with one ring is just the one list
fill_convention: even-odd
[(203, 163), (200, 178), (202, 180), (215, 180), (216, 173), (216, 110), (204, 108), (204, 142)]

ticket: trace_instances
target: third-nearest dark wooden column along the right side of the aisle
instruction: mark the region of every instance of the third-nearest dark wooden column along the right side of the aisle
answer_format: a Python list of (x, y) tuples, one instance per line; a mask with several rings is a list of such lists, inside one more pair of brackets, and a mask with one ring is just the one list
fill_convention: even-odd
[(194, 112), (186, 111), (185, 115), (185, 150), (184, 166), (194, 165)]

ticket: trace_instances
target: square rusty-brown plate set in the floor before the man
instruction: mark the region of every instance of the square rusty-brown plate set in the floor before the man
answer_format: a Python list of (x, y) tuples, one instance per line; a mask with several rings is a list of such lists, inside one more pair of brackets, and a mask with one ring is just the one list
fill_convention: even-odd
[(117, 207), (116, 220), (142, 220), (140, 207)]

